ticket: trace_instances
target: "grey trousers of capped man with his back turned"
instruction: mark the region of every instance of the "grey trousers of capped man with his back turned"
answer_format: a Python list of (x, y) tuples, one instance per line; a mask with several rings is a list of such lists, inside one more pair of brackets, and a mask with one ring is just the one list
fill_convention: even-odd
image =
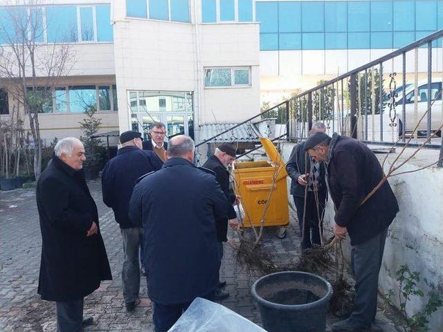
[(123, 297), (125, 303), (134, 302), (140, 293), (140, 264), (138, 252), (141, 246), (143, 228), (134, 227), (121, 230), (123, 237), (123, 261), (122, 282)]

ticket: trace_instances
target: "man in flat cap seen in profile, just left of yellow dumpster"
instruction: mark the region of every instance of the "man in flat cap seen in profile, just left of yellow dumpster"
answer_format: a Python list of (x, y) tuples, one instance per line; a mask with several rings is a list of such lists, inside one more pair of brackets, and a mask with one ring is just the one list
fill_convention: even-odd
[[(217, 241), (219, 245), (219, 266), (221, 266), (221, 259), (223, 258), (223, 242), (228, 241), (226, 235), (228, 234), (228, 223), (231, 227), (235, 228), (237, 226), (237, 214), (233, 208), (234, 203), (238, 203), (239, 196), (235, 196), (232, 190), (229, 188), (229, 172), (227, 167), (229, 167), (235, 160), (235, 146), (230, 143), (223, 143), (215, 148), (215, 153), (210, 156), (203, 167), (210, 169), (215, 173), (217, 182), (219, 183), (221, 190), (224, 192), (226, 199), (229, 203), (228, 219), (216, 220), (215, 226), (217, 229)], [(229, 293), (224, 291), (224, 286), (226, 282), (219, 281), (219, 287), (213, 296), (213, 299), (226, 299)]]

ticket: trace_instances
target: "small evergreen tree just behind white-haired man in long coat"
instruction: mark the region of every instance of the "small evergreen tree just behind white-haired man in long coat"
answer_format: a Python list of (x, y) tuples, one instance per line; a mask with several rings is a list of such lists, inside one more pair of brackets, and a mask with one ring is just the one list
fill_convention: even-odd
[(80, 127), (84, 133), (84, 136), (82, 136), (80, 140), (83, 142), (84, 154), (86, 156), (86, 160), (83, 163), (83, 172), (87, 180), (98, 178), (100, 171), (100, 149), (102, 148), (102, 142), (94, 136), (98, 133), (102, 119), (95, 117), (96, 111), (96, 105), (85, 107), (85, 118), (80, 122)]

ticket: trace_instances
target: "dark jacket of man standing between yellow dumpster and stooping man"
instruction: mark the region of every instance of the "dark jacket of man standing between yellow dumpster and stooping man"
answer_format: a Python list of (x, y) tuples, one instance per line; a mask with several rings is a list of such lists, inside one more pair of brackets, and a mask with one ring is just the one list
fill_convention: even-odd
[[(286, 172), (291, 178), (291, 195), (305, 197), (305, 186), (298, 183), (298, 176), (309, 173), (311, 169), (311, 158), (305, 151), (305, 142), (300, 142), (293, 147), (291, 156), (286, 163)], [(318, 182), (318, 191), (320, 197), (326, 197), (327, 187), (325, 181), (325, 164), (320, 163), (320, 178)]]

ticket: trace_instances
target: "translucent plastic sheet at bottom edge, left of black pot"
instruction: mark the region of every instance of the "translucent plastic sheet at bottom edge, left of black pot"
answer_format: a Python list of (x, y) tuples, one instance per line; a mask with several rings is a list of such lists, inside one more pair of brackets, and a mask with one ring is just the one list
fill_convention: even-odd
[(266, 332), (221, 304), (197, 297), (168, 332)]

